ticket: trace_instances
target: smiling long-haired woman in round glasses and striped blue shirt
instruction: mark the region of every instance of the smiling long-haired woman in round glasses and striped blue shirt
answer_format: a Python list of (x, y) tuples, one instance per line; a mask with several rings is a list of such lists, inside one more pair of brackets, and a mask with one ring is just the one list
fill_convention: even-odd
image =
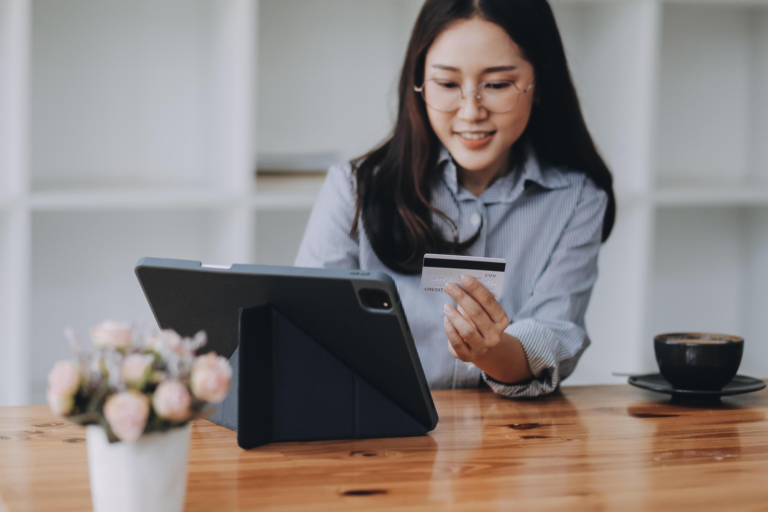
[[(431, 388), (543, 395), (589, 345), (614, 211), (548, 3), (427, 0), (394, 130), (329, 170), (295, 264), (389, 273)], [(421, 292), (425, 253), (505, 258), (502, 297)]]

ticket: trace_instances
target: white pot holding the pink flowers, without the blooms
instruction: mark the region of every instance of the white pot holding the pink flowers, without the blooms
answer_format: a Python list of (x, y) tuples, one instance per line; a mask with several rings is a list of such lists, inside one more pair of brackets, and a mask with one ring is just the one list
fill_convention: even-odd
[(88, 473), (95, 512), (174, 512), (184, 508), (189, 423), (112, 443), (104, 429), (88, 425)]

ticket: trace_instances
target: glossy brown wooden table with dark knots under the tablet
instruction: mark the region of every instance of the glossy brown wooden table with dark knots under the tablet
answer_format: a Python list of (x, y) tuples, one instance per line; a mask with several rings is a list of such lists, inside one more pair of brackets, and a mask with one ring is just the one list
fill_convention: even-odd
[[(440, 421), (419, 438), (243, 451), (196, 421), (187, 510), (768, 510), (768, 390), (716, 405), (628, 385), (433, 395)], [(47, 406), (0, 408), (8, 510), (88, 510), (83, 441)]]

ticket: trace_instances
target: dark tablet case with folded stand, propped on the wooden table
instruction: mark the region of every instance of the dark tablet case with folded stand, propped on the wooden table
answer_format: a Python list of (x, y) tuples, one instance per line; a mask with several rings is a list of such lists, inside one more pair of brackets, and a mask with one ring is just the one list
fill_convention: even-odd
[[(210, 419), (236, 430), (243, 448), (435, 428), (429, 385), (386, 274), (157, 258), (140, 259), (135, 272), (161, 329), (204, 329), (203, 352), (230, 358), (232, 390)], [(366, 306), (363, 289), (386, 292), (392, 307)]]

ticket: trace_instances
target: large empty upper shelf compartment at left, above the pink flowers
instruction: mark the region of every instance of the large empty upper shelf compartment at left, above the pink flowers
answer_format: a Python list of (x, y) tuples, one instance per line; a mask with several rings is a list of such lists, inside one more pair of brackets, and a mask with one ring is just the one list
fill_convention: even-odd
[(32, 0), (33, 190), (241, 188), (252, 3)]

